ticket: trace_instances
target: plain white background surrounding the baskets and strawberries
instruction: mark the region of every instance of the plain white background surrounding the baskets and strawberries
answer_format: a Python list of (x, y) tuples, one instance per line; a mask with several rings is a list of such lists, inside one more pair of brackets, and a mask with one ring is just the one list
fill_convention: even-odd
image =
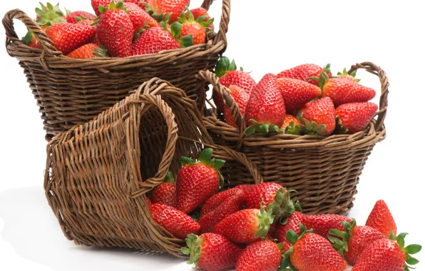
[[(406, 242), (425, 245), (419, 216), (425, 181), (425, 17), (420, 2), (233, 0), (225, 55), (252, 71), (257, 81), (267, 72), (302, 63), (332, 63), (334, 72), (362, 61), (382, 66), (391, 84), (388, 136), (364, 168), (349, 215), (362, 224), (376, 200), (384, 199), (399, 231), (410, 233)], [(35, 0), (3, 1), (0, 14), (19, 8), (34, 16), (36, 5)], [(199, 5), (194, 1), (192, 7)], [(91, 11), (88, 0), (65, 0), (61, 7)], [(219, 18), (220, 0), (210, 14)], [(24, 36), (21, 23), (16, 21), (16, 28)], [(0, 32), (4, 41), (4, 29)], [(63, 237), (43, 194), (46, 142), (36, 102), (18, 61), (4, 49), (0, 56), (0, 270), (190, 270), (174, 257), (78, 247)], [(359, 77), (379, 90), (370, 73)], [(425, 261), (424, 252), (417, 257)]]

